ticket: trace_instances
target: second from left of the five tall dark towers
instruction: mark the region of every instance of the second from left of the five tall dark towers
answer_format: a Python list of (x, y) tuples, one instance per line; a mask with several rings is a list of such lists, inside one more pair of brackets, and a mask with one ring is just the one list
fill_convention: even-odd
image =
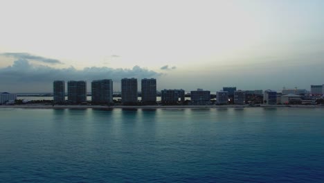
[(68, 101), (82, 103), (87, 101), (87, 82), (84, 80), (70, 80), (68, 82)]

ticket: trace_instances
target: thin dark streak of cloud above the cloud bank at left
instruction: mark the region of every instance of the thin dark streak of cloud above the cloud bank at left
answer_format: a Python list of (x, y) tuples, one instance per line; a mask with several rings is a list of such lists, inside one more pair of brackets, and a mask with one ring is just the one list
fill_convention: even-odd
[(35, 60), (38, 62), (44, 62), (48, 64), (63, 64), (60, 60), (51, 59), (51, 58), (44, 58), (37, 55), (31, 55), (29, 53), (0, 53), (0, 55), (6, 57), (12, 57), (16, 59), (25, 59), (25, 60)]

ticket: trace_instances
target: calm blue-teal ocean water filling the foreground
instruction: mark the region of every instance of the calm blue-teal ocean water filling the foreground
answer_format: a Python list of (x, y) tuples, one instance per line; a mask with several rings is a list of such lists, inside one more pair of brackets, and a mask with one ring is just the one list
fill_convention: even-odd
[(324, 182), (324, 109), (0, 109), (0, 182)]

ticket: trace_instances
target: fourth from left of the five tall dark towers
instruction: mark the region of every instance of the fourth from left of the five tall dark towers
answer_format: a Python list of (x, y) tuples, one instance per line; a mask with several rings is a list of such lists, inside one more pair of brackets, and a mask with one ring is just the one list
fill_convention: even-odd
[(137, 79), (136, 78), (123, 78), (121, 80), (122, 103), (135, 104), (137, 103)]

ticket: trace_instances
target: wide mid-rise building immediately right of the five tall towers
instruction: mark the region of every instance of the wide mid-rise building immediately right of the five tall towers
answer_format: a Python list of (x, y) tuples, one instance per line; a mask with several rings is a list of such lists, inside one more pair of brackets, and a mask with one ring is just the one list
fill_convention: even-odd
[(183, 103), (185, 100), (185, 91), (183, 89), (163, 89), (161, 91), (161, 103), (179, 103), (179, 98), (181, 103)]

